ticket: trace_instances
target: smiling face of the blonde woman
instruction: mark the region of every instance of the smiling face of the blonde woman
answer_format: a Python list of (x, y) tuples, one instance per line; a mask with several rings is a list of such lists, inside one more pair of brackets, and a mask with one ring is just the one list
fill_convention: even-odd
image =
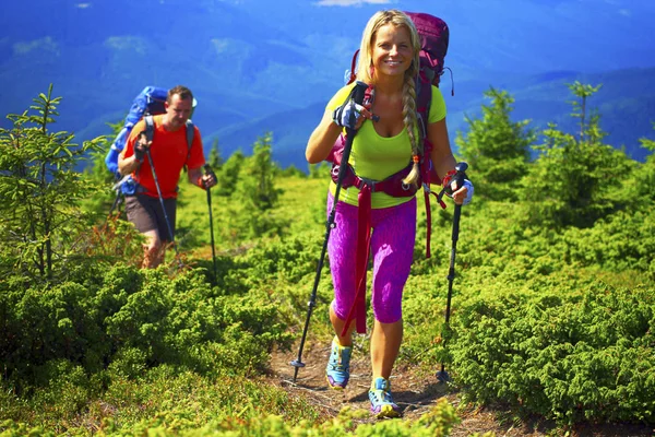
[(376, 75), (403, 75), (413, 58), (412, 38), (405, 26), (390, 23), (378, 28), (371, 54)]

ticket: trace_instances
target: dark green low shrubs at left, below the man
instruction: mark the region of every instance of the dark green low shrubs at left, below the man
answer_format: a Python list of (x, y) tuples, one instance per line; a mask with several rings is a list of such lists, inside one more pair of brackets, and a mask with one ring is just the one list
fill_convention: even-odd
[(238, 293), (243, 288), (234, 286), (230, 294), (209, 287), (199, 271), (171, 279), (164, 269), (120, 263), (84, 285), (4, 284), (3, 378), (24, 395), (67, 363), (85, 375), (107, 368), (128, 378), (163, 364), (209, 376), (252, 374), (263, 368), (273, 344), (288, 345), (290, 336), (266, 295)]

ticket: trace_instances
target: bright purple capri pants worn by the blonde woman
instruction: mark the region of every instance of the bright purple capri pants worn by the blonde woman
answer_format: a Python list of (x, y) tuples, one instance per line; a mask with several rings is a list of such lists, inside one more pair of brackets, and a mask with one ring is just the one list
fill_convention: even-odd
[[(327, 193), (327, 216), (334, 197)], [(330, 233), (327, 255), (334, 284), (332, 308), (345, 320), (355, 300), (357, 206), (336, 203), (335, 227)], [(403, 315), (403, 288), (409, 277), (416, 240), (416, 198), (396, 206), (371, 210), (373, 280), (371, 304), (376, 320), (393, 323)]]

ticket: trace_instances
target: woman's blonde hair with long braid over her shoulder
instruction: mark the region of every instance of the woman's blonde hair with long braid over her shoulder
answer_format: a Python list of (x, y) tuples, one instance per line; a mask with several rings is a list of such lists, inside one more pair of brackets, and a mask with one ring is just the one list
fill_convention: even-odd
[[(409, 135), (412, 144), (412, 158), (414, 165), (412, 172), (403, 180), (407, 185), (416, 185), (420, 178), (420, 167), (418, 161), (424, 154), (421, 130), (417, 128), (416, 118), (416, 79), (418, 76), (420, 51), (420, 39), (414, 22), (402, 11), (391, 9), (379, 11), (373, 14), (364, 28), (361, 44), (359, 47), (359, 67), (357, 69), (357, 79), (371, 85), (376, 85), (376, 72), (372, 70), (373, 42), (380, 27), (391, 24), (394, 27), (405, 27), (409, 32), (414, 56), (409, 68), (405, 71), (405, 83), (403, 84), (403, 122)], [(419, 138), (416, 137), (418, 132)], [(416, 157), (416, 158), (415, 158)]]

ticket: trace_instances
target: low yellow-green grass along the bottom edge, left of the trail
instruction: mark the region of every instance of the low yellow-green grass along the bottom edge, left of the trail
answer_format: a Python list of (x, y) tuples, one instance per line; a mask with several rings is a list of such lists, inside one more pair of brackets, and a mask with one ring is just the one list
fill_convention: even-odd
[(33, 406), (39, 426), (27, 425), (19, 411), (11, 411), (10, 418), (0, 423), (0, 434), (86, 435), (93, 428), (106, 436), (445, 437), (458, 422), (454, 406), (440, 400), (417, 422), (381, 421), (356, 427), (361, 412), (344, 409), (333, 420), (322, 421), (315, 408), (279, 388), (242, 377), (212, 381), (166, 367), (136, 381), (117, 379), (82, 415), (61, 403), (52, 408), (45, 398), (35, 399)]

